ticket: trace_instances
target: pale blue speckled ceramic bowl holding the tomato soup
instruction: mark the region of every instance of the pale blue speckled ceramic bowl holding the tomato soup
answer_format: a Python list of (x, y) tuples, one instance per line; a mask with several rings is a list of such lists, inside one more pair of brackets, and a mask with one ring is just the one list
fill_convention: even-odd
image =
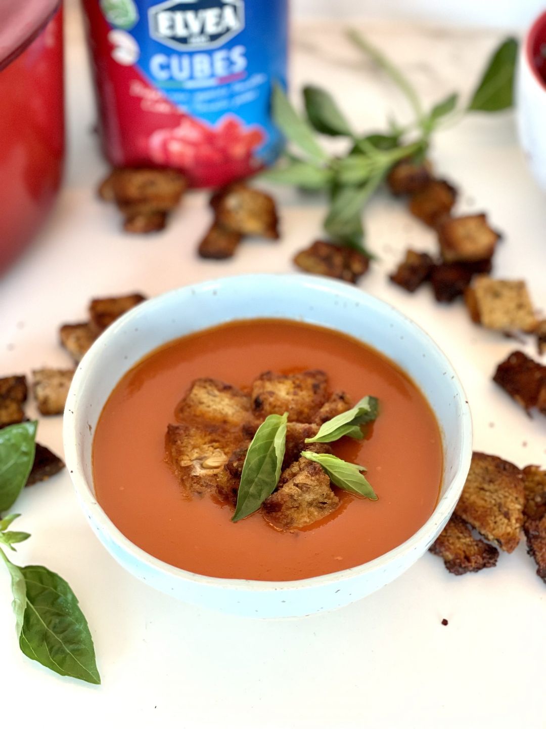
[[(439, 502), (413, 537), (366, 564), (289, 582), (205, 577), (165, 564), (132, 544), (95, 499), (92, 433), (124, 373), (170, 340), (226, 321), (264, 317), (322, 324), (375, 347), (413, 378), (438, 419), (444, 453)], [(199, 606), (252, 617), (289, 617), (349, 604), (414, 564), (438, 537), (459, 499), (470, 467), (472, 423), (461, 383), (446, 356), (392, 306), (327, 278), (252, 275), (185, 286), (139, 305), (108, 327), (76, 370), (66, 403), (64, 447), (68, 471), (92, 529), (131, 574)]]

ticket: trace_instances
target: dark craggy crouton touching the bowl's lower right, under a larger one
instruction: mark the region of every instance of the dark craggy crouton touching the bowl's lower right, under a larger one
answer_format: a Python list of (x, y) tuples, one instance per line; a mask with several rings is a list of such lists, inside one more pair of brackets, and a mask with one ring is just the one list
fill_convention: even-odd
[(480, 572), (480, 569), (494, 567), (499, 550), (482, 539), (472, 537), (467, 523), (453, 515), (432, 547), (432, 554), (438, 555), (451, 574)]

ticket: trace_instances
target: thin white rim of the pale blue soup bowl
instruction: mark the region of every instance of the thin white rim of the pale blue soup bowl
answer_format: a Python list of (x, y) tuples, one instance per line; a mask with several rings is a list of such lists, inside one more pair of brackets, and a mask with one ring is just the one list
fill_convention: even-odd
[[(115, 338), (116, 332), (124, 327), (130, 326), (132, 319), (137, 316), (141, 316), (145, 308), (157, 308), (160, 307), (164, 301), (169, 300), (171, 297), (177, 297), (181, 291), (188, 290), (194, 292), (206, 292), (207, 289), (221, 289), (222, 286), (232, 286), (237, 289), (238, 284), (242, 284), (244, 281), (252, 279), (261, 280), (265, 282), (278, 281), (279, 278), (289, 278), (290, 281), (297, 282), (296, 285), (303, 286), (306, 289), (310, 289), (314, 292), (330, 292), (334, 295), (339, 295), (344, 299), (359, 300), (362, 303), (364, 300), (368, 310), (371, 311), (383, 311), (394, 315), (395, 319), (403, 321), (405, 325), (409, 326), (413, 332), (416, 340), (422, 342), (425, 346), (432, 348), (436, 359), (441, 362), (441, 366), (448, 375), (448, 381), (451, 382), (451, 386), (459, 394), (460, 408), (461, 408), (461, 450), (459, 453), (459, 462), (457, 464), (456, 472), (453, 480), (446, 489), (446, 493), (441, 496), (438, 504), (436, 504), (435, 510), (432, 512), (427, 521), (423, 526), (412, 534), (409, 539), (398, 545), (392, 550), (376, 557), (375, 559), (365, 562), (364, 564), (357, 565), (355, 567), (349, 567), (347, 569), (339, 570), (339, 572), (328, 572), (327, 574), (320, 574), (317, 577), (305, 577), (301, 580), (244, 580), (235, 579), (232, 577), (210, 577), (206, 574), (199, 574), (197, 572), (189, 572), (189, 570), (182, 569), (181, 567), (175, 567), (167, 562), (160, 560), (157, 557), (149, 554), (141, 547), (135, 545), (130, 539), (122, 534), (122, 531), (116, 527), (113, 521), (106, 515), (106, 512), (100, 507), (95, 495), (92, 493), (90, 485), (87, 483), (87, 478), (84, 475), (81, 464), (79, 464), (76, 439), (74, 432), (76, 430), (76, 413), (78, 408), (78, 392), (86, 378), (86, 370), (88, 367), (92, 367), (95, 359), (98, 359), (99, 346), (95, 342), (87, 354), (84, 355), (82, 361), (76, 368), (76, 373), (72, 380), (70, 391), (68, 392), (67, 405), (63, 416), (63, 445), (65, 452), (66, 467), (71, 476), (72, 483), (76, 490), (76, 495), (79, 498), (80, 503), (84, 507), (84, 510), (88, 515), (92, 516), (97, 526), (108, 534), (108, 537), (115, 542), (115, 544), (127, 553), (130, 553), (138, 561), (145, 563), (147, 566), (162, 572), (163, 574), (169, 575), (170, 577), (183, 578), (183, 580), (189, 582), (195, 582), (199, 585), (207, 585), (216, 588), (225, 588), (229, 590), (240, 590), (242, 592), (277, 592), (279, 590), (290, 591), (290, 590), (301, 590), (302, 588), (318, 588), (323, 585), (328, 585), (333, 582), (344, 582), (352, 577), (357, 577), (367, 572), (373, 572), (378, 568), (386, 567), (392, 561), (395, 561), (401, 554), (411, 551), (412, 547), (418, 547), (419, 542), (425, 534), (435, 529), (439, 523), (446, 520), (454, 509), (456, 500), (459, 498), (464, 481), (466, 480), (468, 469), (470, 468), (470, 459), (472, 458), (472, 418), (470, 415), (470, 408), (467, 402), (467, 397), (464, 393), (459, 377), (456, 374), (454, 368), (449, 362), (448, 358), (435, 341), (427, 334), (418, 324), (405, 314), (401, 313), (391, 304), (384, 302), (376, 297), (363, 292), (356, 286), (346, 284), (341, 281), (330, 280), (321, 276), (309, 276), (303, 273), (247, 273), (240, 276), (226, 276), (223, 278), (211, 279), (209, 281), (202, 281), (198, 284), (188, 284), (187, 286), (181, 286), (178, 289), (165, 292), (161, 295), (153, 297), (138, 307), (131, 309), (125, 313), (122, 317), (114, 321), (110, 327), (100, 336), (103, 338)], [(286, 317), (283, 317), (286, 318)], [(290, 319), (290, 317), (288, 317)], [(229, 319), (226, 321), (240, 321), (240, 319)], [(294, 321), (301, 321), (301, 319), (294, 319)], [(210, 324), (211, 327), (215, 324)], [(332, 327), (327, 327), (332, 328)], [(198, 330), (196, 330), (198, 331)], [(334, 330), (336, 331), (336, 330)], [(184, 336), (184, 335), (183, 335)], [(357, 337), (355, 337), (357, 339)], [(134, 365), (132, 365), (134, 367)], [(130, 369), (132, 369), (130, 367)], [(129, 370), (127, 370), (129, 371)], [(68, 409), (71, 408), (71, 409)]]

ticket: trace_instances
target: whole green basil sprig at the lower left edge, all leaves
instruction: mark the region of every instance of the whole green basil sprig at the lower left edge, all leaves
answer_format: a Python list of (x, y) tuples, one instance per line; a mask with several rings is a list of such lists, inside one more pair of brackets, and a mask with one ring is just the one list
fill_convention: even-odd
[[(25, 486), (31, 471), (36, 423), (21, 423), (0, 430), (0, 510), (9, 508)], [(4, 552), (31, 535), (10, 531), (19, 516), (0, 519), (0, 558), (12, 578), (13, 611), (20, 649), (62, 676), (98, 684), (87, 620), (68, 583), (43, 566), (19, 567)]]

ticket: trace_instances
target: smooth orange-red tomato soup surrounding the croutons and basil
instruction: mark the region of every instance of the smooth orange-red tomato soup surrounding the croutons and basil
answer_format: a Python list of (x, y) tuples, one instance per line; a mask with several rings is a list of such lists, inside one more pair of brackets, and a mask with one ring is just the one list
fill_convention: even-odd
[[(379, 397), (364, 440), (334, 453), (368, 468), (379, 499), (336, 489), (341, 506), (306, 529), (280, 532), (260, 512), (232, 523), (232, 507), (189, 499), (165, 462), (167, 424), (196, 378), (249, 386), (265, 370), (324, 370), (354, 402)], [(93, 441), (98, 502), (135, 545), (169, 564), (212, 577), (299, 580), (363, 564), (411, 537), (438, 501), (442, 444), (417, 386), (374, 349), (339, 332), (282, 319), (223, 324), (168, 343), (116, 385)]]

